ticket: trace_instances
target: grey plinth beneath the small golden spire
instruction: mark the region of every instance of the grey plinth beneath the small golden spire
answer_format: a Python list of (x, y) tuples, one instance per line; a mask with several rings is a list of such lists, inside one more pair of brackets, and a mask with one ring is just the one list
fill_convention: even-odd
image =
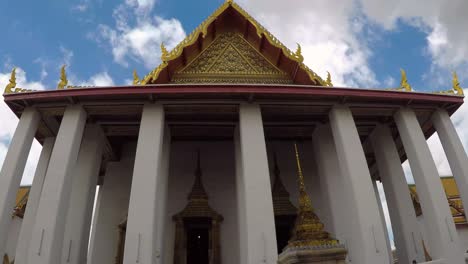
[(278, 264), (345, 264), (343, 246), (288, 248), (278, 256)]

